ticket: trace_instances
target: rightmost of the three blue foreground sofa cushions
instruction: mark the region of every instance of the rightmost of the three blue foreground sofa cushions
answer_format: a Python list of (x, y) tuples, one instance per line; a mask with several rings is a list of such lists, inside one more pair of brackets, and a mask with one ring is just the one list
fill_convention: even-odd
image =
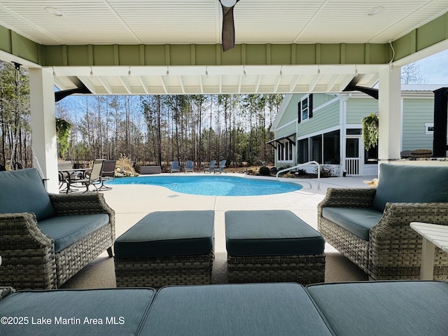
[(322, 283), (307, 290), (335, 335), (447, 335), (448, 283)]

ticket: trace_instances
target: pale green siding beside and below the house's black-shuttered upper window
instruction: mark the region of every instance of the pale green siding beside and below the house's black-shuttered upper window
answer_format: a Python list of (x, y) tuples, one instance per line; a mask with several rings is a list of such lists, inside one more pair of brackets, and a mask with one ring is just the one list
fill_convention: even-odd
[[(325, 95), (329, 96), (328, 94)], [(314, 94), (314, 96), (318, 95)], [(317, 109), (316, 106), (314, 106), (314, 102), (315, 101), (313, 100), (313, 118), (303, 121), (298, 125), (298, 137), (300, 138), (307, 134), (319, 132), (339, 125), (339, 100), (335, 100), (335, 102), (322, 109)]]

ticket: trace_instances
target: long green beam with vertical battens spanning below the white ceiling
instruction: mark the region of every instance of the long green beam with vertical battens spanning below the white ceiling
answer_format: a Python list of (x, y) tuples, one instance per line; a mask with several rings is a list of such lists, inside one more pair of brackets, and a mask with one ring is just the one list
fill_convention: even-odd
[[(388, 44), (44, 45), (43, 66), (386, 64)], [(66, 50), (66, 52), (64, 52)]]

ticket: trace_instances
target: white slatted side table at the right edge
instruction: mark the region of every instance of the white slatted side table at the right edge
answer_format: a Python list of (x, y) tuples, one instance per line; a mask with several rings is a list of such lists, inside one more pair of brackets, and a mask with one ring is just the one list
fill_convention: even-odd
[(437, 246), (442, 251), (448, 253), (448, 226), (430, 223), (412, 222), (410, 223), (421, 237), (421, 280), (433, 280), (434, 278), (434, 248)]

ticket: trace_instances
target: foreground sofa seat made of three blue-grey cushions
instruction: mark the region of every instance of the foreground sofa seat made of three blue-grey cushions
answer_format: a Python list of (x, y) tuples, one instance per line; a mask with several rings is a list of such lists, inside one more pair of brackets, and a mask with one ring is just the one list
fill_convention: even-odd
[[(1, 291), (1, 288), (0, 288)], [(447, 335), (442, 281), (8, 291), (0, 335)]]

